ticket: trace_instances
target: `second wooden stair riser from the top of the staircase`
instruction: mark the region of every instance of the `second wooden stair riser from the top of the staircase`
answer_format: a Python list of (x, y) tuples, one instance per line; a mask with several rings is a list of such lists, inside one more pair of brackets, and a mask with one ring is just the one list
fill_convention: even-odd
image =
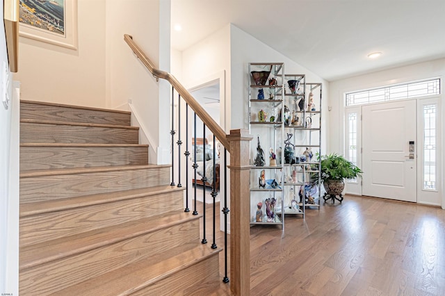
[(138, 144), (138, 129), (20, 123), (22, 143)]

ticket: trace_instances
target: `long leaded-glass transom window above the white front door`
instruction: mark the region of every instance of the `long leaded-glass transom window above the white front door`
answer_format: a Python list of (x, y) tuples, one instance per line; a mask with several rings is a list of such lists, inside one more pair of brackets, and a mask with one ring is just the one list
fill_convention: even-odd
[(346, 93), (346, 106), (364, 105), (381, 101), (408, 99), (431, 94), (440, 94), (440, 79), (428, 79), (403, 84), (389, 85), (383, 88), (360, 90)]

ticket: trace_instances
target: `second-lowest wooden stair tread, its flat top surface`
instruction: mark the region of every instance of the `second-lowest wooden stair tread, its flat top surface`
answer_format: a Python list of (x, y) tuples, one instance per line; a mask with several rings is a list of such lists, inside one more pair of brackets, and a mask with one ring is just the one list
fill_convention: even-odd
[(145, 233), (199, 219), (202, 215), (191, 215), (184, 211), (171, 211), (162, 215), (134, 220), (111, 227), (95, 229), (74, 236), (66, 236), (28, 245), (20, 249), (19, 270), (25, 270), (43, 263), (81, 254), (104, 245), (127, 240)]

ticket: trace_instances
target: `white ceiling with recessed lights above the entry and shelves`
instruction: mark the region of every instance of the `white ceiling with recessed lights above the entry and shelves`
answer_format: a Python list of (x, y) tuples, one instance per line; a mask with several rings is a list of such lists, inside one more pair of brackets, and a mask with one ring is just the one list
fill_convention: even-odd
[(172, 0), (172, 47), (228, 23), (327, 81), (445, 57), (445, 0)]

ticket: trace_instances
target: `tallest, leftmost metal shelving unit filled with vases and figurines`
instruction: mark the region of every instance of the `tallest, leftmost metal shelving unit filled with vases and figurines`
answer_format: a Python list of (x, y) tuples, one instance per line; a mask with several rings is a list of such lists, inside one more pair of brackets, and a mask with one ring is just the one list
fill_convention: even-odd
[[(254, 81), (252, 72), (262, 74), (261, 85)], [(250, 144), (250, 224), (275, 224), (284, 229), (283, 167), (279, 162), (282, 155), (277, 153), (284, 137), (284, 124), (278, 116), (284, 110), (283, 74), (284, 63), (250, 63), (248, 67), (249, 130), (254, 137)], [(254, 161), (258, 139), (265, 161), (259, 166)], [(270, 149), (277, 155), (276, 165), (270, 165)], [(261, 186), (262, 182), (265, 183)], [(270, 205), (268, 209), (266, 204)]]

